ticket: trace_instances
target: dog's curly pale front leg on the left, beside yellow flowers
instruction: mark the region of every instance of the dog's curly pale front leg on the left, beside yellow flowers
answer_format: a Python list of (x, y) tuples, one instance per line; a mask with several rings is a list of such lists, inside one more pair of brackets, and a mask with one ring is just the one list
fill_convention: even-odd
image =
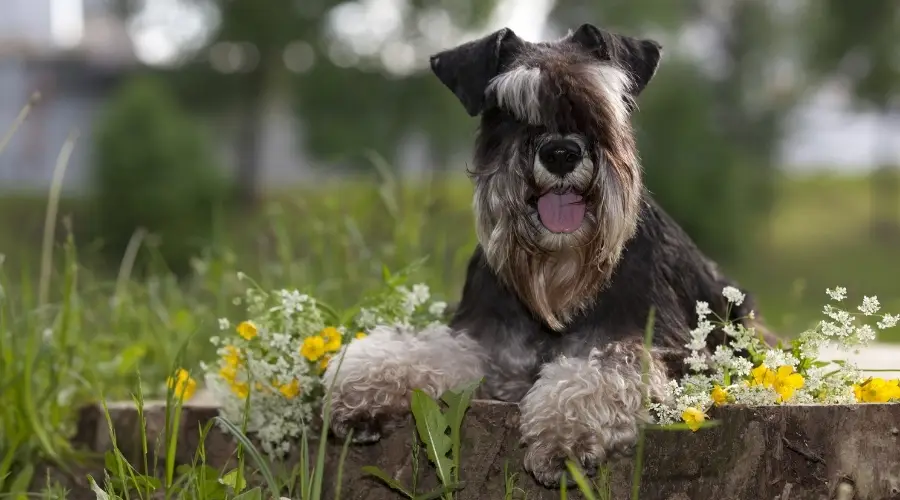
[(475, 341), (445, 326), (377, 327), (328, 364), (323, 382), (326, 390), (334, 382), (332, 432), (343, 438), (353, 429), (355, 443), (378, 441), (407, 414), (413, 389), (438, 397), (480, 379), (479, 353)]

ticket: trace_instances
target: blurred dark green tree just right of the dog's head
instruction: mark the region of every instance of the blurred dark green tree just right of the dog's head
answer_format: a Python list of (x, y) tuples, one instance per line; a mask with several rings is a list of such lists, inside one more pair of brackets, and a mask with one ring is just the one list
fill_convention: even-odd
[(558, 0), (551, 12), (566, 29), (587, 21), (663, 44), (635, 115), (646, 182), (726, 263), (765, 236), (782, 124), (808, 84), (790, 71), (805, 64), (804, 14), (774, 0)]

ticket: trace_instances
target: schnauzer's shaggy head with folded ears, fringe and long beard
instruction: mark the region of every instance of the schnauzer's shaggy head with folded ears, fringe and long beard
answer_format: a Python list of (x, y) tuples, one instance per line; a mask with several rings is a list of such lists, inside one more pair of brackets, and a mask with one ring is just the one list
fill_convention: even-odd
[(490, 265), (551, 327), (612, 272), (640, 211), (630, 114), (661, 47), (579, 27), (532, 43), (502, 29), (431, 57), (481, 115), (470, 174)]

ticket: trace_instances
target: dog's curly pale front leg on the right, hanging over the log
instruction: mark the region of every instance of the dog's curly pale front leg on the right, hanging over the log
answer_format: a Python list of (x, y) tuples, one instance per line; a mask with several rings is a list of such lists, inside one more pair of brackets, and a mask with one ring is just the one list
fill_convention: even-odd
[[(645, 421), (642, 358), (638, 343), (613, 343), (591, 350), (587, 359), (560, 357), (544, 365), (520, 403), (525, 468), (546, 486), (557, 486), (565, 461), (587, 474), (609, 456), (627, 454)], [(663, 397), (666, 369), (650, 357), (647, 394)]]

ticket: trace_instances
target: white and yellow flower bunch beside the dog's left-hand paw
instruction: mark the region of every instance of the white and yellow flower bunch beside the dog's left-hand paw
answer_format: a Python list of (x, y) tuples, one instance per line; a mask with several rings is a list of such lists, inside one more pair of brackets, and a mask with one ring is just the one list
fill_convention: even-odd
[(246, 307), (247, 317), (237, 325), (219, 320), (223, 335), (211, 339), (219, 359), (202, 366), (223, 416), (239, 427), (246, 420), (247, 431), (270, 457), (287, 453), (304, 430), (311, 430), (326, 389), (321, 375), (342, 346), (377, 325), (423, 327), (441, 321), (447, 304), (432, 301), (426, 285), (407, 287), (400, 280), (385, 285), (347, 324), (337, 324), (330, 308), (297, 290), (249, 288), (235, 300)]

